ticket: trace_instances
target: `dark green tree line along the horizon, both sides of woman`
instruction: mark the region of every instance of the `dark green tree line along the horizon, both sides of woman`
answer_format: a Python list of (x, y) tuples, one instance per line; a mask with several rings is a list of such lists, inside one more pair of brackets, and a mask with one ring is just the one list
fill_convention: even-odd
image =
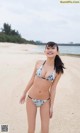
[[(15, 31), (11, 28), (11, 25), (4, 23), (3, 28), (0, 32), (0, 42), (13, 42), (13, 43), (25, 43), (25, 44), (35, 44), (35, 45), (45, 45), (41, 41), (26, 40), (21, 37), (21, 34), (18, 31)], [(59, 43), (59, 46), (80, 46), (80, 43)]]

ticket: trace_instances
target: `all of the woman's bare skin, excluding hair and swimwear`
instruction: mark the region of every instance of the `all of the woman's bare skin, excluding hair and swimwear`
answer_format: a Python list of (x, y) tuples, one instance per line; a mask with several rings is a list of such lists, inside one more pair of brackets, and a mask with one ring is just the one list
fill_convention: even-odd
[[(53, 72), (54, 59), (55, 56), (59, 53), (57, 51), (56, 46), (54, 46), (53, 48), (51, 47), (45, 48), (44, 53), (47, 59), (46, 63), (43, 66), (41, 76), (46, 78), (48, 75), (50, 75)], [(28, 82), (26, 89), (23, 92), (23, 95), (20, 98), (20, 103), (25, 102), (27, 92), (34, 99), (48, 99), (50, 97), (50, 100), (48, 100), (46, 103), (40, 106), (41, 133), (49, 133), (49, 120), (53, 116), (53, 105), (56, 93), (56, 86), (58, 84), (58, 81), (62, 73), (59, 74), (56, 73), (56, 77), (53, 82), (38, 77), (37, 75), (35, 75), (36, 70), (41, 66), (43, 62), (44, 60), (38, 60), (36, 62), (32, 77)], [(28, 97), (26, 99), (26, 111), (28, 118), (28, 133), (34, 133), (37, 107)]]

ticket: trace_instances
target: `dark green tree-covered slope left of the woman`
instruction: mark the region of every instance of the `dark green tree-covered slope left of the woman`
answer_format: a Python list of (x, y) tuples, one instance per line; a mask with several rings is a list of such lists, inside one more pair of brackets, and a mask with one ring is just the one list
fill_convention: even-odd
[(18, 31), (11, 29), (11, 25), (4, 23), (0, 32), (0, 42), (29, 43), (35, 44), (33, 40), (26, 40), (21, 37)]

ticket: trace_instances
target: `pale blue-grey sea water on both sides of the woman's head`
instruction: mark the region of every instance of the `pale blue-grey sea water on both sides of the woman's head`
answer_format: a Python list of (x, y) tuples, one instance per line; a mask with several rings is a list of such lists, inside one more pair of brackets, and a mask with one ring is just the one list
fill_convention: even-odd
[[(44, 52), (45, 46), (37, 45), (35, 52)], [(80, 54), (80, 46), (59, 46), (61, 54)]]

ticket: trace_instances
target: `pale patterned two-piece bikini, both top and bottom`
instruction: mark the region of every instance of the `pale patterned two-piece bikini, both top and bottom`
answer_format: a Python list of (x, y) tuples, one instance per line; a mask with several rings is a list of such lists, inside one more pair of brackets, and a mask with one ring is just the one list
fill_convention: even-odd
[[(47, 78), (41, 76), (42, 68), (43, 68), (45, 62), (46, 61), (44, 61), (43, 64), (37, 69), (36, 76), (38, 76), (39, 78), (42, 78), (44, 80), (48, 80), (48, 81), (53, 82), (53, 80), (55, 79), (55, 74), (56, 74), (55, 73), (55, 69), (54, 69), (54, 71)], [(33, 99), (29, 95), (28, 95), (28, 98), (30, 98), (33, 101), (33, 103), (36, 105), (36, 107), (40, 107), (41, 105), (43, 105), (45, 102), (47, 102), (50, 99), (50, 98), (48, 98), (46, 100)]]

